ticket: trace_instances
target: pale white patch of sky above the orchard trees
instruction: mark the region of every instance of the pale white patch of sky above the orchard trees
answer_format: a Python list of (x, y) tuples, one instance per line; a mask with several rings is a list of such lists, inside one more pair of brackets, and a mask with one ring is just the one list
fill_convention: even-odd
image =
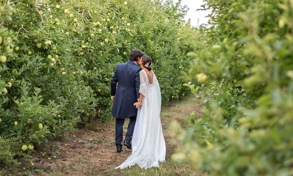
[[(178, 2), (178, 0), (173, 0), (174, 2)], [(199, 10), (196, 11), (197, 9), (202, 9), (200, 7), (201, 5), (205, 4), (206, 2), (203, 2), (203, 0), (182, 0), (181, 5), (187, 5), (189, 10), (187, 12), (187, 15), (185, 16), (185, 21), (188, 21), (190, 18), (190, 23), (192, 26), (199, 26), (203, 23), (207, 24), (207, 21), (209, 20), (207, 16), (211, 10)], [(197, 25), (197, 19), (199, 20), (199, 24)]]

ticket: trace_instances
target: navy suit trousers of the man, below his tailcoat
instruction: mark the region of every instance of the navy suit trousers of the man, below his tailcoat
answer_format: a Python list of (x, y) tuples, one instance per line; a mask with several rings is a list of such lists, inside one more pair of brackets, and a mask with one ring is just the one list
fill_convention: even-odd
[[(128, 123), (127, 127), (127, 133), (125, 136), (125, 140), (131, 141), (132, 140), (132, 135), (133, 135), (133, 130), (134, 130), (134, 125), (136, 121), (136, 116), (130, 117), (130, 121)], [(122, 139), (123, 139), (123, 124), (124, 124), (125, 119), (118, 119), (116, 118), (116, 125), (115, 125), (115, 132), (116, 132), (116, 137), (115, 137), (115, 144), (116, 148), (122, 148)]]

